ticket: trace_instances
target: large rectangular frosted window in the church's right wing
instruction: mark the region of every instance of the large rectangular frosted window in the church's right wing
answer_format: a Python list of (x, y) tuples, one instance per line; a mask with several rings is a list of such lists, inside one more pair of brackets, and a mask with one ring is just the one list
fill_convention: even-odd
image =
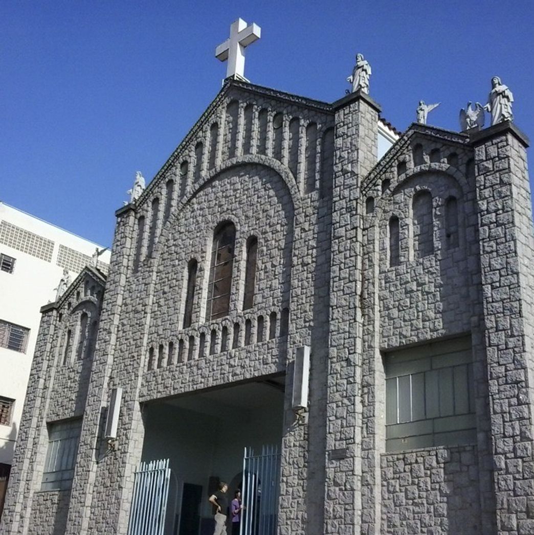
[(386, 450), (476, 442), (469, 337), (392, 351), (386, 372)]

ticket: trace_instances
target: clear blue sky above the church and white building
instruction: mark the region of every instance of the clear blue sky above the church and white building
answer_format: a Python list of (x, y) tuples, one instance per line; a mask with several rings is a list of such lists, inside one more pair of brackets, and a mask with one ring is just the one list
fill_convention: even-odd
[(441, 102), (429, 123), (457, 130), (499, 75), (534, 139), (531, 0), (3, 0), (0, 200), (110, 244), (136, 170), (152, 179), (219, 91), (238, 17), (261, 26), (253, 83), (333, 102), (362, 52), (383, 117), (403, 130)]

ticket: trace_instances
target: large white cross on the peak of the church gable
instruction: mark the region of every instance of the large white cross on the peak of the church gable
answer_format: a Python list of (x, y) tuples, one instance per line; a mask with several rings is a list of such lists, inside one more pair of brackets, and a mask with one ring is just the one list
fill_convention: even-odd
[[(222, 62), (228, 60), (226, 78), (246, 80), (245, 47), (261, 36), (261, 28), (252, 22), (247, 26), (243, 19), (237, 19), (230, 25), (230, 39), (224, 41), (215, 49), (215, 57)], [(248, 80), (246, 80), (248, 81)]]

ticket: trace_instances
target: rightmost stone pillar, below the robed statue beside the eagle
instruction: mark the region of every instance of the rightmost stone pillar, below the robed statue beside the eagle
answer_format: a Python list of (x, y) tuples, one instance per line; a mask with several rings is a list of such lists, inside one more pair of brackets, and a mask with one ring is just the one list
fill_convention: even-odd
[(534, 239), (526, 137), (511, 123), (475, 148), (497, 530), (534, 533), (532, 308)]

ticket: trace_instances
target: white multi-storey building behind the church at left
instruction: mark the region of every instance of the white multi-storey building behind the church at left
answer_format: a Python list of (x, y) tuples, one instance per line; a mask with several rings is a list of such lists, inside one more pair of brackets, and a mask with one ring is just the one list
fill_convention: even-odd
[[(74, 280), (97, 244), (0, 202), (0, 514), (42, 305), (66, 268)], [(99, 256), (107, 272), (110, 251)]]

